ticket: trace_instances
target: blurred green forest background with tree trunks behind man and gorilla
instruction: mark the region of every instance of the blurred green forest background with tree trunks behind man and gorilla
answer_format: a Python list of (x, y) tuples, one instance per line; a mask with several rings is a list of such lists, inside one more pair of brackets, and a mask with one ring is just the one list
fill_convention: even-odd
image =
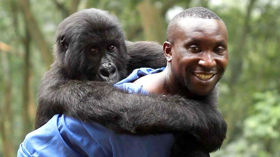
[(162, 44), (168, 21), (194, 6), (217, 13), (229, 34), (219, 84), (227, 139), (211, 156), (280, 156), (279, 0), (0, 0), (0, 156), (15, 156), (32, 131), (40, 79), (65, 17), (105, 9), (120, 19), (128, 40)]

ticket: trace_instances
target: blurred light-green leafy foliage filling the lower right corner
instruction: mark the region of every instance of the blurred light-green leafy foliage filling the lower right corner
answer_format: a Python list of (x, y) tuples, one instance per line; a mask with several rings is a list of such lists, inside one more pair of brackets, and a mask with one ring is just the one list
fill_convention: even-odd
[(212, 156), (279, 156), (280, 94), (257, 92), (253, 99), (254, 114), (244, 120), (241, 136)]

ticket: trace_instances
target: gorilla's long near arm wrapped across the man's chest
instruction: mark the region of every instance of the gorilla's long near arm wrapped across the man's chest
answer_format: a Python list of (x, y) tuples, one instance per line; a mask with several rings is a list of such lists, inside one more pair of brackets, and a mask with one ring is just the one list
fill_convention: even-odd
[[(54, 69), (46, 73), (41, 84), (36, 128), (54, 114), (64, 113), (120, 133), (187, 131), (209, 152), (219, 148), (225, 138), (226, 124), (215, 103), (127, 94), (105, 82), (67, 80), (62, 71)], [(213, 97), (215, 102), (215, 94)], [(208, 100), (210, 104), (213, 101)]]

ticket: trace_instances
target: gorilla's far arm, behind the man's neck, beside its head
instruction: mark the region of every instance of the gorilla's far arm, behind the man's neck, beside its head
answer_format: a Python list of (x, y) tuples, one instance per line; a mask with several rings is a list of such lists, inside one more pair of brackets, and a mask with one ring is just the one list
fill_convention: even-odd
[(153, 69), (166, 67), (162, 45), (152, 41), (125, 41), (127, 53), (130, 58), (127, 64), (127, 71), (131, 73), (140, 67), (150, 67)]

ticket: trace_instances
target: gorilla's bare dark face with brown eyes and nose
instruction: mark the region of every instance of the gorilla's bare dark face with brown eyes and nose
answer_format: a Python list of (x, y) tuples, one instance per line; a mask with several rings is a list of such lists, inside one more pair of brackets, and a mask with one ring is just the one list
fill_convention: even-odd
[(88, 74), (91, 80), (100, 80), (116, 83), (125, 77), (126, 60), (125, 45), (120, 43), (121, 39), (104, 39), (94, 37), (88, 39), (83, 53), (85, 53), (88, 65)]

